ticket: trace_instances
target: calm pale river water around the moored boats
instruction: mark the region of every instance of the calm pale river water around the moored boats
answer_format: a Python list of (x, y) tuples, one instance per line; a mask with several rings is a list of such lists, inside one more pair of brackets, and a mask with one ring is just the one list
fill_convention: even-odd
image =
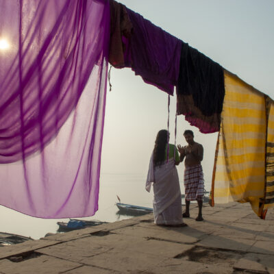
[[(151, 208), (153, 194), (145, 190), (145, 180), (146, 176), (140, 174), (101, 174), (99, 210), (94, 216), (84, 219), (114, 222), (131, 218), (117, 214), (116, 195), (120, 197), (121, 203)], [(184, 193), (184, 185), (182, 182), (180, 184), (182, 193)], [(210, 190), (208, 179), (206, 179), (205, 186), (207, 190)], [(34, 239), (41, 238), (48, 232), (56, 233), (58, 229), (56, 222), (69, 221), (69, 219), (34, 218), (3, 206), (0, 206), (0, 216), (0, 232), (30, 236)]]

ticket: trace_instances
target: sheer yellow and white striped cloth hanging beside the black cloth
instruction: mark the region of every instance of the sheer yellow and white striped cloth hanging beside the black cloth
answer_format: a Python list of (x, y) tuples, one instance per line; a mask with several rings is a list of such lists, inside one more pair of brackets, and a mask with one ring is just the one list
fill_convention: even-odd
[[(272, 112), (274, 129), (273, 109)], [(269, 151), (274, 160), (274, 138), (271, 141), (273, 147)], [(249, 202), (260, 216), (266, 182), (265, 151), (265, 96), (225, 71), (225, 99), (212, 176), (212, 202)], [(271, 163), (274, 166), (274, 161)], [(274, 179), (271, 182), (274, 184)], [(270, 190), (274, 190), (273, 184), (269, 184)]]

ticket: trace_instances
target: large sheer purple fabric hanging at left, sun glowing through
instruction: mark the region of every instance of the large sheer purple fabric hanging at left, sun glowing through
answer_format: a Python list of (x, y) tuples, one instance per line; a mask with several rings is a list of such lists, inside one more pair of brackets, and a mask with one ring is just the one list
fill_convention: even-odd
[(0, 204), (42, 218), (98, 208), (107, 0), (0, 0)]

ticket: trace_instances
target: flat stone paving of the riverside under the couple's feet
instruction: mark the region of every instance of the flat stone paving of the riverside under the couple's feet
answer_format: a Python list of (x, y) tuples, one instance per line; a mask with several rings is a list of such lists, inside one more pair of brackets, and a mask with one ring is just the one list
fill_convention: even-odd
[(0, 247), (1, 274), (273, 273), (274, 210), (249, 204), (203, 207), (188, 227), (159, 227), (153, 214)]

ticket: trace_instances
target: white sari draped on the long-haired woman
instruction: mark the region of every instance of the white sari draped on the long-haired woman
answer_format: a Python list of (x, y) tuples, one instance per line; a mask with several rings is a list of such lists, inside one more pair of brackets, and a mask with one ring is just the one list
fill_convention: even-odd
[(153, 184), (153, 212), (156, 225), (179, 225), (182, 219), (182, 198), (179, 177), (174, 159), (160, 166), (153, 166), (153, 153), (149, 162), (146, 190)]

